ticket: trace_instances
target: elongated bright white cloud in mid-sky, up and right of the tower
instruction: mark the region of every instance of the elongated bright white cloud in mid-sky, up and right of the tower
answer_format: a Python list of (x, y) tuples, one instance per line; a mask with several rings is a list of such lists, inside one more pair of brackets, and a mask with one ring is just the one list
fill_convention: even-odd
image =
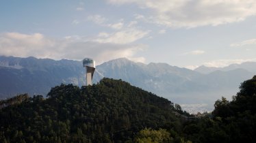
[[(113, 43), (113, 44), (130, 44), (136, 42), (138, 39), (148, 35), (150, 31), (142, 31), (139, 29), (131, 28), (114, 33), (100, 33), (95, 42), (99, 43)], [(105, 37), (103, 37), (103, 35)]]

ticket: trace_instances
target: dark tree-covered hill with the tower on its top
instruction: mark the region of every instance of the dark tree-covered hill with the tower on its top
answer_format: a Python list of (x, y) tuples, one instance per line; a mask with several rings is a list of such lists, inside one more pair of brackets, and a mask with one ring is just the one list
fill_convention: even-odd
[(109, 78), (16, 100), (1, 101), (0, 142), (132, 142), (146, 127), (175, 133), (181, 121), (174, 112), (185, 114), (168, 99)]

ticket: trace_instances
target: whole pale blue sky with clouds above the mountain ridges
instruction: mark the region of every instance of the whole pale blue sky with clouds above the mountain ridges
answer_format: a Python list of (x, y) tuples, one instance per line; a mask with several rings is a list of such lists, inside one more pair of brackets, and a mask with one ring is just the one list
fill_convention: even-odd
[(0, 1), (0, 55), (179, 67), (256, 61), (255, 0)]

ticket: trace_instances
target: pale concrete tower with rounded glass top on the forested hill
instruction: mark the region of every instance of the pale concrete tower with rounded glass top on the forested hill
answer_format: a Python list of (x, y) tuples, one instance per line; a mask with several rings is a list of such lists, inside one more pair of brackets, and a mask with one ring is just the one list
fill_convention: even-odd
[(92, 76), (95, 71), (95, 61), (90, 58), (83, 60), (83, 67), (86, 67), (86, 85), (92, 85)]

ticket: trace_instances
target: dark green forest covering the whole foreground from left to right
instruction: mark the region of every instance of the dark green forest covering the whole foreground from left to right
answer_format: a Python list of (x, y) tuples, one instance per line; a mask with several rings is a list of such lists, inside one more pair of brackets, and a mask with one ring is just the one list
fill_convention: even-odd
[(256, 142), (256, 76), (209, 116), (189, 118), (178, 104), (103, 78), (55, 86), (48, 97), (0, 101), (0, 142)]

